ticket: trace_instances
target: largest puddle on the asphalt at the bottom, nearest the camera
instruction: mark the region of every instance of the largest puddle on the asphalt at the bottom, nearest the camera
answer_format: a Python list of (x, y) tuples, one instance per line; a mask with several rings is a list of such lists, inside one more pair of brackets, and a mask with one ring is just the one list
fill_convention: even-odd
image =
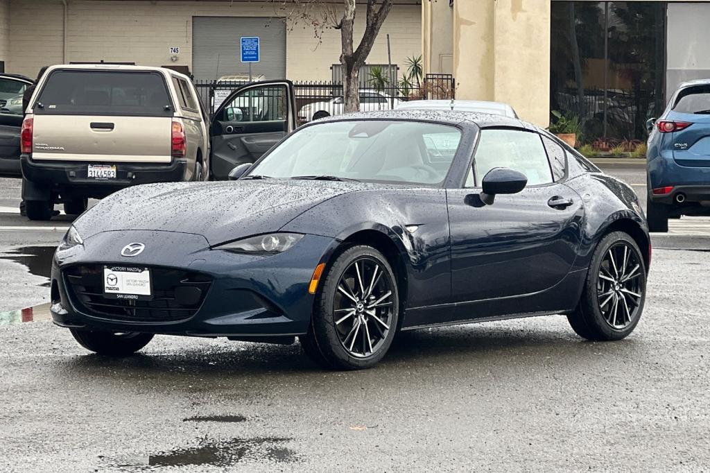
[[(257, 437), (251, 439), (207, 440), (197, 447), (160, 452), (148, 457), (148, 465), (155, 467), (195, 467), (212, 465), (229, 467), (241, 460), (270, 460), (293, 462), (297, 456), (280, 446), (288, 438)], [(135, 465), (138, 466), (138, 465)]]

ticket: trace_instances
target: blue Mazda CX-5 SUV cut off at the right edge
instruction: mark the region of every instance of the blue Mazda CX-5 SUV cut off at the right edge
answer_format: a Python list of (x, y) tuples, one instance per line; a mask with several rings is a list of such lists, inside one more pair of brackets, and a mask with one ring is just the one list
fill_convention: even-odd
[(650, 231), (667, 232), (669, 218), (710, 215), (710, 79), (679, 85), (647, 126)]

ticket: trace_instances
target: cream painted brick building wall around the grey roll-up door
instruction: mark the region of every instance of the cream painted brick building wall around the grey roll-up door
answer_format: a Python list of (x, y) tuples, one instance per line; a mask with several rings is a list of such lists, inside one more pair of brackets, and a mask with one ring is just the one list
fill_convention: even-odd
[[(35, 75), (45, 64), (62, 62), (62, 4), (59, 0), (10, 0), (10, 59), (7, 70)], [(193, 16), (278, 16), (268, 4), (227, 1), (91, 1), (68, 0), (67, 62), (127, 61), (141, 65), (170, 64), (170, 46), (180, 46), (176, 64), (192, 65)], [(364, 10), (364, 6), (360, 6)], [(359, 18), (364, 18), (364, 11)], [(31, 35), (18, 32), (29, 30)], [(356, 30), (356, 44), (363, 25)], [(404, 66), (421, 54), (421, 6), (394, 6), (368, 62), (386, 63), (386, 33), (392, 61)], [(1, 50), (0, 50), (1, 52)], [(291, 80), (329, 80), (330, 65), (339, 62), (340, 34), (329, 30), (319, 45), (311, 27), (288, 26), (286, 75)]]

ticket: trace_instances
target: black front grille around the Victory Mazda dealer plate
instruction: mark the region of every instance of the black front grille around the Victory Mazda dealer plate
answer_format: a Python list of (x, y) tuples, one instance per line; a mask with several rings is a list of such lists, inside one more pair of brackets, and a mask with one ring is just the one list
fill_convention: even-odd
[(175, 322), (200, 309), (212, 284), (209, 276), (170, 268), (151, 268), (153, 299), (104, 298), (104, 266), (72, 266), (63, 271), (77, 309), (87, 315), (127, 322)]

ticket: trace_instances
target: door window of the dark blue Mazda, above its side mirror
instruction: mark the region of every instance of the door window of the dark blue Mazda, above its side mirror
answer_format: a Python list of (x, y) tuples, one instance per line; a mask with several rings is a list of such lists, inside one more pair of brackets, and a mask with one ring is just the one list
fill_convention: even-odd
[(528, 185), (552, 183), (552, 170), (545, 146), (537, 133), (523, 130), (487, 129), (481, 131), (474, 157), (479, 180), (493, 168), (510, 168), (528, 177)]

